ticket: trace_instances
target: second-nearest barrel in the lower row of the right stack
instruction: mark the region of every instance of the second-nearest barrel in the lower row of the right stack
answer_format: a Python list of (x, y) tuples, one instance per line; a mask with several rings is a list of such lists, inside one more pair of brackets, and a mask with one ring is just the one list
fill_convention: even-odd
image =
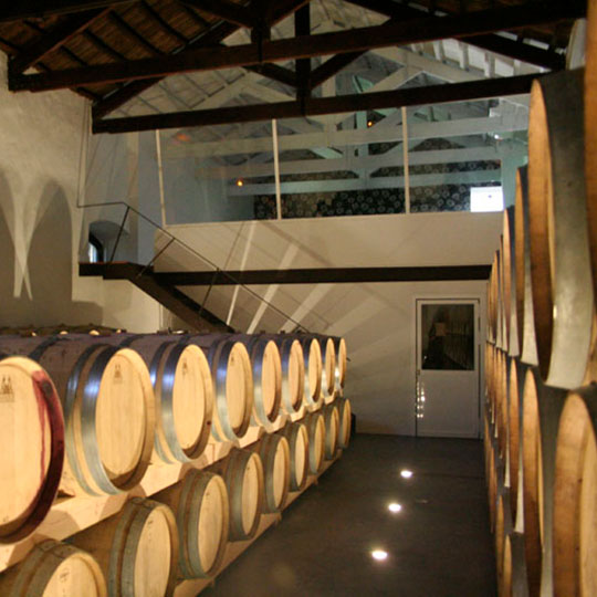
[[(523, 389), (523, 516), (528, 595), (549, 589), (556, 436), (565, 392), (546, 386), (536, 367)], [(543, 594), (543, 593), (542, 593)]]

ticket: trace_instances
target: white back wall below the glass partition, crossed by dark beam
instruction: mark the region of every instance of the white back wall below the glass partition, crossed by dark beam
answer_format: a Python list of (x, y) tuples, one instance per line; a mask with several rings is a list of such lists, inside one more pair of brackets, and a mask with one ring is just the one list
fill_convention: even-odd
[[(168, 231), (223, 269), (291, 269), (490, 264), (501, 213), (417, 213), (174, 226)], [(160, 245), (163, 240), (156, 240)], [(169, 251), (157, 269), (205, 270), (187, 250)], [(187, 287), (202, 300), (205, 289)], [(416, 282), (253, 286), (287, 316), (313, 332), (342, 335), (348, 344), (347, 389), (358, 429), (411, 434), (415, 428), (415, 300), (481, 300), (485, 282)], [(213, 287), (207, 308), (231, 324), (292, 331), (294, 324), (247, 291)], [(255, 316), (256, 314), (256, 316)], [(481, 343), (484, 338), (480, 338)]]

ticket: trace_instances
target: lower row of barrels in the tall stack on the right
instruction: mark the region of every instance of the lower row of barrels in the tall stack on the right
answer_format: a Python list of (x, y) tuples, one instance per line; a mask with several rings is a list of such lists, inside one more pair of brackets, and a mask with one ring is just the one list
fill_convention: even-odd
[(486, 347), (485, 470), (501, 596), (597, 595), (597, 385)]

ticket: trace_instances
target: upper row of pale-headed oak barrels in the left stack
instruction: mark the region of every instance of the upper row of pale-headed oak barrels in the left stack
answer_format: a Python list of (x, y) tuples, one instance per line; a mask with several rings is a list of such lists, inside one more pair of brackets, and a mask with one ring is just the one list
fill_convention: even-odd
[(315, 335), (0, 336), (0, 543), (30, 534), (59, 489), (105, 495), (210, 438), (271, 432), (342, 394), (346, 346)]

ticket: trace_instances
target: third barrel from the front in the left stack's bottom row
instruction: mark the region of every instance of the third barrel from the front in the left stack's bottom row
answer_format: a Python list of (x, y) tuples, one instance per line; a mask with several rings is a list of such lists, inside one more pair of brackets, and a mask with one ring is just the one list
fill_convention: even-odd
[(182, 481), (153, 499), (168, 504), (176, 515), (180, 575), (213, 576), (228, 544), (229, 500), (223, 479), (213, 472), (192, 469)]

